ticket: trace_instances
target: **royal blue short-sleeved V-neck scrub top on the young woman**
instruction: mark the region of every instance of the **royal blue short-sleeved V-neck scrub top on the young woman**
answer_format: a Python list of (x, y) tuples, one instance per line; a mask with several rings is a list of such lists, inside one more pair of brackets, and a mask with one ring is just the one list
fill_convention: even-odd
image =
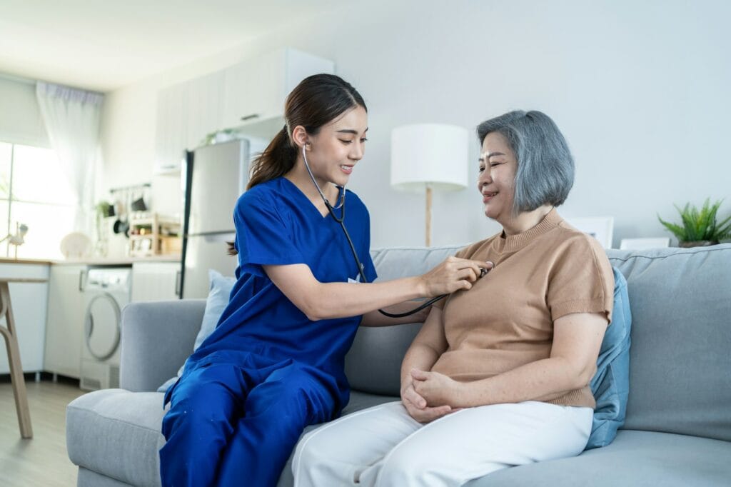
[[(353, 192), (346, 190), (345, 200), (346, 227), (363, 273), (373, 282), (376, 269), (370, 254), (368, 210)], [(340, 212), (336, 210), (338, 216)], [(228, 352), (249, 352), (273, 360), (291, 358), (333, 377), (347, 400), (344, 358), (361, 316), (308, 320), (262, 269), (262, 265), (306, 264), (319, 282), (360, 282), (340, 224), (330, 214), (322, 216), (283, 177), (243, 193), (236, 203), (234, 222), (237, 281), (216, 329), (188, 359), (186, 369), (221, 351), (227, 356), (232, 355)]]

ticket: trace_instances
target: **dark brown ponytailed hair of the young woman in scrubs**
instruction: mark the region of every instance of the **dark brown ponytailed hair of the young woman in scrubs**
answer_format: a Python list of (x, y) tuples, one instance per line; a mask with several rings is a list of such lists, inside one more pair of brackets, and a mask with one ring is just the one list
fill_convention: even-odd
[[(347, 110), (363, 107), (366, 102), (350, 83), (336, 75), (312, 75), (300, 81), (284, 102), (284, 127), (251, 164), (251, 178), (246, 189), (289, 173), (297, 162), (298, 147), (292, 129), (301, 125), (309, 135), (341, 116)], [(229, 254), (237, 254), (228, 242)]]

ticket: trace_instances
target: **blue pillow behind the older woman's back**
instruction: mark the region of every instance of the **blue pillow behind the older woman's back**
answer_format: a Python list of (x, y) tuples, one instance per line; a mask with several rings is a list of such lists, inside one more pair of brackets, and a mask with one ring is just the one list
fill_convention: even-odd
[(591, 380), (591, 392), (596, 399), (594, 421), (591, 424), (586, 450), (609, 445), (617, 430), (624, 425), (629, 395), (629, 332), (632, 313), (629, 311), (627, 281), (617, 268), (614, 271), (614, 308), (612, 322), (599, 350), (596, 374)]

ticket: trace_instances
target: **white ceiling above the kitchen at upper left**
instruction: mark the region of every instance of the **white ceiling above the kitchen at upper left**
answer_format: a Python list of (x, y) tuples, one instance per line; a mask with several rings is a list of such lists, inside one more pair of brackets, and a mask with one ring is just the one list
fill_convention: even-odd
[(0, 0), (0, 73), (111, 91), (343, 3)]

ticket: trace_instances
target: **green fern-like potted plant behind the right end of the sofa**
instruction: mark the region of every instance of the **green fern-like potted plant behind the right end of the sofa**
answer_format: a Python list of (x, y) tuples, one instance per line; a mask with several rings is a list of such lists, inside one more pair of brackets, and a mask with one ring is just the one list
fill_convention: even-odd
[(675, 205), (681, 214), (682, 225), (665, 222), (659, 215), (657, 219), (678, 238), (678, 246), (715, 245), (724, 238), (731, 238), (731, 216), (720, 223), (716, 222), (716, 213), (722, 201), (718, 200), (711, 205), (706, 198), (700, 210), (690, 203), (686, 203), (682, 210)]

